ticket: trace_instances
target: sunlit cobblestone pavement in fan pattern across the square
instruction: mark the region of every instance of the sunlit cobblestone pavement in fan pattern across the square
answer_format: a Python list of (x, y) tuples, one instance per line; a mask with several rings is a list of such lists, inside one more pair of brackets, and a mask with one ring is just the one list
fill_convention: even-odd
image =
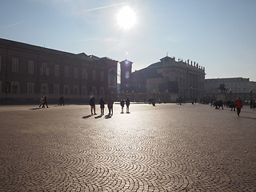
[(0, 106), (0, 191), (256, 191), (248, 106), (37, 107)]

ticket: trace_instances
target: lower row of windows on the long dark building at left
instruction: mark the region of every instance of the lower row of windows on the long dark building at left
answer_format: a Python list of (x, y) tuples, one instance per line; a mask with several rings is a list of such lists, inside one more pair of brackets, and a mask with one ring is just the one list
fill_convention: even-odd
[[(2, 82), (0, 82), (0, 87), (2, 87)], [(21, 90), (21, 87), (19, 85), (19, 82), (11, 82), (10, 83), (10, 90), (8, 90), (8, 92), (10, 92), (11, 94), (19, 94), (20, 90)], [(82, 94), (89, 94), (87, 91), (87, 86), (82, 86), (81, 90), (82, 90)], [(98, 95), (96, 86), (92, 86), (91, 92), (94, 95)], [(41, 84), (40, 93), (41, 94), (49, 94), (50, 93), (48, 84), (46, 84), (46, 83)], [(34, 94), (34, 83), (33, 82), (27, 82), (27, 94)], [(60, 86), (58, 84), (53, 85), (53, 93), (52, 94), (60, 94)], [(79, 86), (64, 85), (63, 86), (63, 94), (80, 94)], [(104, 87), (100, 88), (99, 94), (105, 95)]]

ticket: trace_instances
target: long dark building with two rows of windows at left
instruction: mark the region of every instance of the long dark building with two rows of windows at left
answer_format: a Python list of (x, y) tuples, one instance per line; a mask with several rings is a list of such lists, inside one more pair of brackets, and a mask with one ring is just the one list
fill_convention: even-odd
[(0, 101), (87, 102), (117, 91), (118, 61), (0, 38)]

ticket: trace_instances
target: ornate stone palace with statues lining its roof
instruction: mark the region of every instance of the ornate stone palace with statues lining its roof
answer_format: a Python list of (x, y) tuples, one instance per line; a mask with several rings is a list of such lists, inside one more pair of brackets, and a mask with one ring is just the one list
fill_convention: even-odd
[[(167, 100), (195, 100), (204, 96), (205, 68), (198, 63), (184, 62), (166, 56), (142, 70), (132, 74), (135, 93), (168, 96)], [(150, 97), (150, 96), (149, 96)], [(170, 97), (170, 98), (169, 98)]]

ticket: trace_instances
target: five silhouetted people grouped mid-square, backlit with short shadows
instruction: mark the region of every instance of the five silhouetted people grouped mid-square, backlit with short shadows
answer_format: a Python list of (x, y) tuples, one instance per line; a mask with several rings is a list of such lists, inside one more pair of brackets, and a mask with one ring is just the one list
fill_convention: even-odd
[[(101, 110), (101, 115), (104, 115), (104, 110), (105, 110), (105, 100), (104, 98), (101, 98), (100, 101), (99, 101), (99, 106), (100, 106), (100, 110)], [(112, 116), (113, 115), (113, 105), (114, 105), (114, 101), (112, 98), (108, 99), (107, 101), (107, 108), (109, 110), (109, 113), (108, 115), (109, 116)], [(122, 98), (121, 102), (120, 102), (120, 105), (121, 105), (121, 113), (123, 114), (123, 108), (124, 106), (126, 105), (126, 113), (130, 113), (129, 112), (129, 106), (130, 106), (130, 99), (129, 98), (126, 98), (126, 100), (124, 98)], [(96, 114), (96, 109), (95, 109), (95, 98), (92, 97), (90, 98), (90, 114)]]

